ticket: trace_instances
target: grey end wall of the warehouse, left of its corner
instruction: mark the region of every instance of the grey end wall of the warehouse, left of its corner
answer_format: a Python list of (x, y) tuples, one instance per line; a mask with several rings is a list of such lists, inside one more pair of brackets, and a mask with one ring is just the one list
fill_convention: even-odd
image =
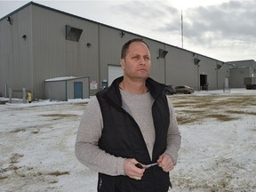
[[(1, 20), (0, 23), (0, 61), (1, 66), (3, 66), (1, 67), (0, 81), (1, 84), (7, 84), (13, 90), (22, 91), (23, 87), (31, 90), (30, 9), (26, 7), (20, 12), (13, 13), (10, 17), (12, 18), (12, 25), (6, 20)], [(27, 38), (23, 39), (23, 35), (26, 35)], [(4, 92), (3, 87), (1, 86), (2, 92)]]

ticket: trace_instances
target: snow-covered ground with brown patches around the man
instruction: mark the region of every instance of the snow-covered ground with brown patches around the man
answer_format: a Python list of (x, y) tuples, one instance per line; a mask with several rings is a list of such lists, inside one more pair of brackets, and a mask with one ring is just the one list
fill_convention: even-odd
[[(195, 92), (170, 100), (182, 135), (170, 191), (256, 191), (256, 91)], [(87, 101), (0, 105), (1, 192), (96, 191), (97, 173), (74, 153)]]

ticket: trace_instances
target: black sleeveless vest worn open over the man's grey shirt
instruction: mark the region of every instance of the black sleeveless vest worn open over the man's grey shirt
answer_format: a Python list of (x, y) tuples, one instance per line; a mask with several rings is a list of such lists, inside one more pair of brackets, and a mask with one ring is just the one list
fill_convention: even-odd
[[(108, 89), (96, 94), (103, 117), (103, 131), (99, 147), (113, 156), (135, 158), (142, 164), (156, 163), (158, 156), (166, 148), (167, 132), (170, 123), (170, 112), (164, 84), (159, 84), (151, 78), (147, 79), (147, 87), (154, 103), (152, 116), (155, 125), (156, 140), (153, 148), (152, 161), (148, 148), (140, 132), (139, 125), (122, 108), (119, 84), (123, 77), (117, 78)], [(141, 114), (143, 116), (143, 114)], [(109, 176), (99, 173), (99, 192), (165, 192), (171, 186), (169, 172), (154, 166), (144, 172), (141, 180), (133, 180), (127, 176)]]

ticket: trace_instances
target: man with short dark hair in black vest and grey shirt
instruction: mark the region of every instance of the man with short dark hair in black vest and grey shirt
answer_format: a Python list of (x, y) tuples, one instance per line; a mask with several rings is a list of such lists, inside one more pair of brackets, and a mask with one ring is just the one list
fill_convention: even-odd
[(168, 191), (180, 131), (164, 84), (148, 77), (148, 44), (139, 38), (124, 44), (121, 66), (124, 76), (98, 92), (85, 108), (76, 157), (99, 172), (99, 192)]

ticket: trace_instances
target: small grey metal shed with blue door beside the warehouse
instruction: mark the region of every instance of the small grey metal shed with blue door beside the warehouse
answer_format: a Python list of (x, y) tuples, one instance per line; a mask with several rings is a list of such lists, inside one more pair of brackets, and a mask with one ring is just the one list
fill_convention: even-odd
[(46, 79), (45, 98), (49, 100), (74, 100), (90, 98), (89, 76), (63, 76)]

